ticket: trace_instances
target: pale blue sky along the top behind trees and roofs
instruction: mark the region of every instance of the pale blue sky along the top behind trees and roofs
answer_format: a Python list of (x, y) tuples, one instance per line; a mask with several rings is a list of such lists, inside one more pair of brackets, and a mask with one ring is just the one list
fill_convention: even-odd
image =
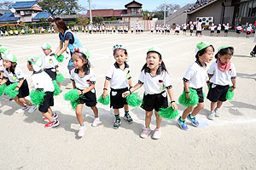
[[(6, 0), (0, 0), (3, 3)], [(8, 0), (12, 2), (16, 1), (30, 1), (30, 0)], [(102, 8), (113, 8), (113, 9), (124, 9), (125, 4), (131, 3), (132, 0), (91, 0), (92, 9), (102, 9)], [(154, 11), (156, 7), (160, 4), (165, 3), (165, 0), (136, 0), (138, 3), (143, 3), (143, 10), (148, 9), (149, 11)], [(183, 7), (187, 3), (195, 3), (196, 0), (166, 0), (166, 3), (179, 4)], [(79, 4), (89, 9), (88, 0), (79, 0)]]

